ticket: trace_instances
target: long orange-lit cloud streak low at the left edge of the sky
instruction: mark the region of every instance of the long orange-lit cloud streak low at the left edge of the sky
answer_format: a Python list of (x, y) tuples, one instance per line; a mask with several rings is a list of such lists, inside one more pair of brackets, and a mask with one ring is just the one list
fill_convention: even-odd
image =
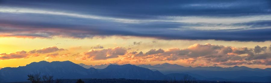
[[(48, 48), (42, 48), (39, 50), (32, 50), (29, 52), (26, 51), (18, 51), (10, 54), (2, 53), (0, 54), (0, 60), (8, 60), (8, 59), (20, 59), (20, 58), (29, 58), (29, 57), (37, 57), (42, 54), (46, 53), (53, 53), (53, 52), (59, 52), (64, 51), (66, 49), (58, 49), (56, 46), (48, 47)], [(58, 53), (49, 54), (47, 56), (57, 56)]]

